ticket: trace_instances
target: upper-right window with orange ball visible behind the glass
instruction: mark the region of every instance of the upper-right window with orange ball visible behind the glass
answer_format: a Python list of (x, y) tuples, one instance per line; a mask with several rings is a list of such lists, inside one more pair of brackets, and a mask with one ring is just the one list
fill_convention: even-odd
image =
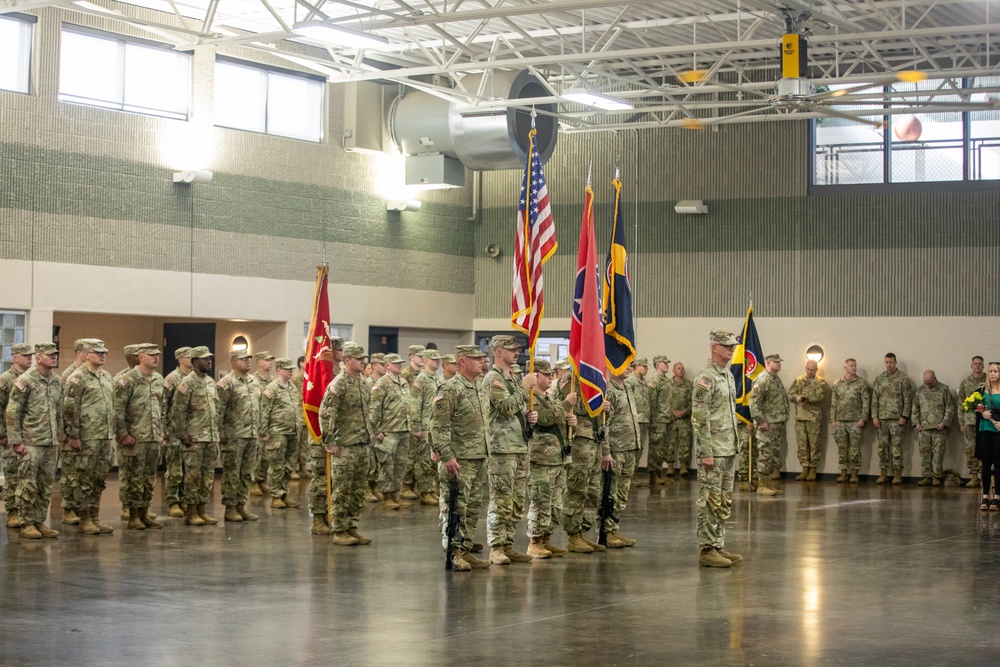
[[(988, 102), (998, 86), (1000, 77), (900, 82), (886, 86), (884, 92), (905, 94), (915, 104), (940, 111), (910, 114), (897, 107), (867, 117), (881, 126), (840, 117), (814, 121), (812, 185), (1000, 179), (1000, 111), (962, 109), (963, 104)], [(851, 113), (871, 109), (870, 105), (834, 108)]]

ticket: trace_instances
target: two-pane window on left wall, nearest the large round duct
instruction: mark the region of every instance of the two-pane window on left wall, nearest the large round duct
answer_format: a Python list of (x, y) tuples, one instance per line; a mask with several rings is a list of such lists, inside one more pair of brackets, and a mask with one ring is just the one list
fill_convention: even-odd
[(323, 139), (321, 77), (219, 58), (215, 124), (293, 139)]

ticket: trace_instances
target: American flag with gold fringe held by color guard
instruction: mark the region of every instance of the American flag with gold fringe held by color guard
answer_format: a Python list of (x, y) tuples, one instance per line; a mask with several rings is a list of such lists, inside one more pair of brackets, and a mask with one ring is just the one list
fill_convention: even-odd
[(528, 348), (535, 347), (545, 295), (542, 265), (558, 247), (556, 226), (552, 220), (549, 190), (545, 187), (542, 162), (535, 146), (535, 119), (528, 132), (528, 159), (521, 181), (521, 197), (517, 206), (517, 234), (514, 237), (514, 288), (510, 300), (511, 326), (528, 334)]

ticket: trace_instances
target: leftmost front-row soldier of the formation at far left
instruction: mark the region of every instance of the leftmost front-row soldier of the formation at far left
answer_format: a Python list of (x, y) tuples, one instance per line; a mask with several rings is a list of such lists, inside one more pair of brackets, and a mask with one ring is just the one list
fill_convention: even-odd
[(45, 525), (56, 484), (56, 447), (66, 437), (62, 381), (52, 372), (58, 367), (56, 344), (37, 343), (35, 367), (14, 380), (4, 415), (7, 444), (18, 458), (17, 488), (7, 493), (15, 497), (25, 539), (59, 536)]

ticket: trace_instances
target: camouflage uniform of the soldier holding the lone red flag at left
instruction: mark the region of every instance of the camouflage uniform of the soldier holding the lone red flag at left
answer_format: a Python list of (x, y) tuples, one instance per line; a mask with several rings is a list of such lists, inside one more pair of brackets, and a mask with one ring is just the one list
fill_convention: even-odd
[[(345, 345), (345, 356), (348, 346)], [(334, 533), (345, 533), (358, 527), (358, 517), (365, 503), (368, 486), (369, 448), (375, 435), (371, 422), (372, 392), (360, 373), (352, 378), (341, 372), (326, 388), (319, 408), (323, 430), (323, 445), (328, 449), (339, 447), (339, 454), (330, 458), (331, 502), (333, 517), (330, 528)], [(326, 470), (316, 460), (313, 449), (313, 467), (316, 475), (310, 484), (312, 513), (326, 514)], [(325, 456), (325, 452), (323, 453)], [(322, 476), (319, 471), (323, 470)]]

